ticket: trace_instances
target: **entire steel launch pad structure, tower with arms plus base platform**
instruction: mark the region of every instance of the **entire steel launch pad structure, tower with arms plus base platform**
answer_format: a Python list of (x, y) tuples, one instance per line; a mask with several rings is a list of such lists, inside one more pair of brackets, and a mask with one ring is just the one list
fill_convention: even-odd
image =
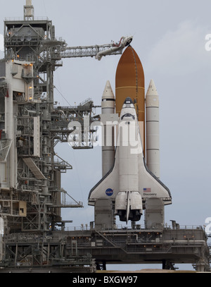
[[(61, 187), (61, 173), (72, 169), (55, 153), (58, 142), (93, 147), (96, 130), (77, 138), (69, 123), (97, 121), (91, 99), (78, 106), (56, 106), (53, 73), (63, 58), (122, 54), (118, 45), (67, 47), (56, 39), (51, 20), (34, 19), (26, 1), (23, 20), (4, 21), (5, 59), (0, 61), (0, 272), (94, 272), (106, 264), (191, 263), (210, 271), (210, 250), (201, 226), (66, 230), (61, 208), (82, 208)], [(83, 127), (84, 125), (82, 125)], [(71, 192), (71, 190), (70, 190)], [(98, 206), (98, 212), (103, 210)], [(97, 211), (96, 210), (96, 211)]]

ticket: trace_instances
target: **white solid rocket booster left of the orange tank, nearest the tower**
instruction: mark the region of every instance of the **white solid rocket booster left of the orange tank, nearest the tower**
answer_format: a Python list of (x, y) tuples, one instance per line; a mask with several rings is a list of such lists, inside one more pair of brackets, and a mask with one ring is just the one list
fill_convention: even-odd
[(115, 97), (109, 80), (106, 82), (106, 87), (103, 92), (101, 111), (101, 122), (103, 123), (102, 176), (105, 176), (113, 166), (115, 157), (114, 128), (112, 124), (115, 120)]

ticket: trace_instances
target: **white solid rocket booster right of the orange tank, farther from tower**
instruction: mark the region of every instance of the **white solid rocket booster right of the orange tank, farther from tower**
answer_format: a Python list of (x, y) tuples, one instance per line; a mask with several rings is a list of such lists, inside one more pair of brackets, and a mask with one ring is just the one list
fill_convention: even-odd
[(160, 178), (159, 97), (153, 80), (146, 93), (146, 163)]

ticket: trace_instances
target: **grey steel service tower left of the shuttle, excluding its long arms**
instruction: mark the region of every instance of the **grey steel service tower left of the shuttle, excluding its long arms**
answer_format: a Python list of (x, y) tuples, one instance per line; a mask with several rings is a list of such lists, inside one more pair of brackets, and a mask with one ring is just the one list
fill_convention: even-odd
[(62, 66), (65, 42), (55, 38), (51, 20), (34, 20), (32, 1), (26, 1), (23, 20), (5, 20), (4, 40), (0, 214), (8, 232), (48, 231), (64, 224), (60, 207), (73, 206), (61, 202), (66, 192), (60, 187), (60, 174), (72, 166), (54, 152), (61, 140), (58, 133), (68, 133), (53, 126), (53, 121), (62, 121), (59, 113), (53, 117), (53, 72)]

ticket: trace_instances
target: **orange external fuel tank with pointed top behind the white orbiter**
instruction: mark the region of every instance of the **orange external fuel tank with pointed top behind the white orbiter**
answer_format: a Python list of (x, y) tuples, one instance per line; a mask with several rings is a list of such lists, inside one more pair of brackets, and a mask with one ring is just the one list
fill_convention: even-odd
[(124, 100), (130, 97), (135, 103), (145, 155), (145, 92), (143, 66), (136, 51), (128, 46), (117, 66), (115, 78), (115, 112), (119, 114)]

